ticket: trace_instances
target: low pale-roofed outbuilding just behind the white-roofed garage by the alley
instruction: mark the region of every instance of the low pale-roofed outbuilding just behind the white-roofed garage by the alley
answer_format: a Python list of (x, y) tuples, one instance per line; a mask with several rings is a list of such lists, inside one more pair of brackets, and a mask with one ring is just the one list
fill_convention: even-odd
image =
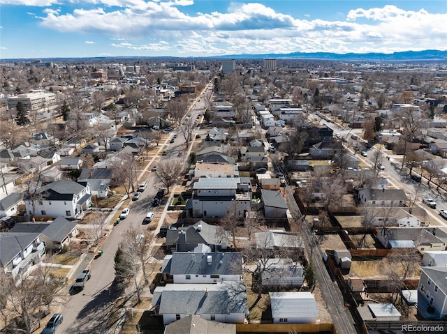
[(301, 287), (305, 274), (301, 264), (294, 264), (292, 259), (267, 259), (265, 263), (258, 261), (258, 272), (261, 274), (263, 287)]

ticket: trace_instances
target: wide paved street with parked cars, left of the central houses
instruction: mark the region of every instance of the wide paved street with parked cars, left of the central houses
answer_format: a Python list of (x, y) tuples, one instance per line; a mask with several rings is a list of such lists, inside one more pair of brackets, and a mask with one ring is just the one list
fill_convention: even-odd
[[(196, 107), (191, 108), (191, 116), (197, 117), (197, 114), (203, 114), (202, 109), (204, 103), (203, 101), (196, 101), (195, 105)], [(154, 164), (158, 164), (159, 161), (168, 160), (184, 152), (184, 139), (182, 140), (180, 134), (178, 134), (174, 143), (170, 143), (170, 138), (173, 137), (174, 133), (172, 132), (166, 141), (159, 145), (158, 154), (148, 162), (145, 167), (146, 169), (149, 169)], [(168, 150), (168, 155), (161, 155), (161, 152), (164, 150)], [(104, 250), (103, 255), (98, 257), (98, 259), (93, 259), (93, 255), (89, 254), (78, 267), (75, 275), (87, 268), (92, 261), (91, 266), (89, 266), (91, 279), (85, 284), (85, 289), (78, 294), (73, 294), (60, 310), (64, 314), (64, 321), (57, 330), (59, 333), (102, 334), (108, 330), (109, 324), (105, 321), (114, 312), (117, 296), (120, 295), (117, 287), (113, 283), (115, 279), (114, 257), (119, 242), (122, 241), (129, 227), (139, 229), (141, 234), (149, 233), (147, 230), (148, 225), (142, 225), (147, 211), (156, 212), (154, 221), (150, 223), (150, 225), (158, 224), (155, 233), (163, 221), (164, 214), (166, 214), (166, 210), (163, 211), (163, 207), (153, 208), (151, 206), (152, 199), (158, 190), (154, 185), (154, 180), (155, 176), (152, 173), (149, 174), (147, 179), (139, 179), (139, 182), (147, 181), (147, 188), (142, 192), (140, 199), (132, 201), (129, 204), (129, 208), (131, 209), (129, 216), (113, 227), (102, 247)]]

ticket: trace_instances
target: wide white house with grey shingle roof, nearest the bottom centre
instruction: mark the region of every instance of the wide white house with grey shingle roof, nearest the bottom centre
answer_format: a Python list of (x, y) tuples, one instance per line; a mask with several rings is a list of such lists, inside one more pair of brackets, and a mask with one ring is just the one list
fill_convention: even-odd
[(163, 324), (200, 315), (205, 320), (243, 324), (249, 314), (244, 281), (217, 284), (166, 284), (156, 287), (152, 306)]

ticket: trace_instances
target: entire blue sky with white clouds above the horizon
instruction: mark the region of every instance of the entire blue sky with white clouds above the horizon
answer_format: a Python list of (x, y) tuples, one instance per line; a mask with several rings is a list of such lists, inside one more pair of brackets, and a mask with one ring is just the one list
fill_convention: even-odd
[(446, 0), (0, 0), (0, 59), (447, 50)]

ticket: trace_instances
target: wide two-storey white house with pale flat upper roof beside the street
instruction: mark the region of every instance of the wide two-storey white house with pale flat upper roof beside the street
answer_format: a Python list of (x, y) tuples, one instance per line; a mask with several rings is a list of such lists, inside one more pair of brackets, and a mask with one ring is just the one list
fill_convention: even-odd
[(190, 201), (193, 218), (223, 217), (230, 205), (244, 218), (251, 206), (251, 184), (240, 178), (200, 178), (193, 184)]

